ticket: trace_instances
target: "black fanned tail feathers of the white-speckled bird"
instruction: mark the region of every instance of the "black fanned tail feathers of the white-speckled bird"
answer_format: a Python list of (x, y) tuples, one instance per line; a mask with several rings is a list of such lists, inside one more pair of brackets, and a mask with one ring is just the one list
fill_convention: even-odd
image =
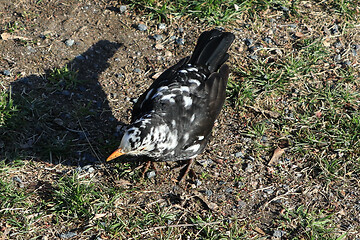
[(234, 34), (222, 32), (218, 29), (203, 32), (198, 39), (189, 63), (205, 66), (211, 73), (216, 72), (229, 58), (227, 50), (234, 38)]

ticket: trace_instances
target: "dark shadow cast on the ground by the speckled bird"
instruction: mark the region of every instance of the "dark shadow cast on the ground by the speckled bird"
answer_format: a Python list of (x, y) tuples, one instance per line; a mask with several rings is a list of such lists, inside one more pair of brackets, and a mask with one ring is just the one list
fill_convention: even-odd
[(118, 144), (99, 76), (121, 43), (101, 40), (66, 65), (11, 83), (16, 111), (0, 128), (1, 158), (84, 166), (103, 161)]

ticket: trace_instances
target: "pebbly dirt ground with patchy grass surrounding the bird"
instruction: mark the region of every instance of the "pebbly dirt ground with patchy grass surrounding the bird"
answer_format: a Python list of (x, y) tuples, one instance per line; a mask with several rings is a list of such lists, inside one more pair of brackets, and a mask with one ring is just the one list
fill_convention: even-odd
[[(0, 3), (0, 239), (360, 239), (359, 2), (196, 2)], [(214, 27), (228, 99), (185, 183), (105, 162)]]

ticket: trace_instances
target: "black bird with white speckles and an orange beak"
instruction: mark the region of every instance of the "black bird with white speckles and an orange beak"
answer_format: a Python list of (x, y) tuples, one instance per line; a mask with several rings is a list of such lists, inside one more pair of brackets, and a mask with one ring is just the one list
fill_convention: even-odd
[(119, 147), (106, 159), (137, 156), (157, 161), (189, 161), (202, 153), (226, 98), (229, 50), (235, 36), (203, 32), (191, 56), (165, 70), (138, 98)]

